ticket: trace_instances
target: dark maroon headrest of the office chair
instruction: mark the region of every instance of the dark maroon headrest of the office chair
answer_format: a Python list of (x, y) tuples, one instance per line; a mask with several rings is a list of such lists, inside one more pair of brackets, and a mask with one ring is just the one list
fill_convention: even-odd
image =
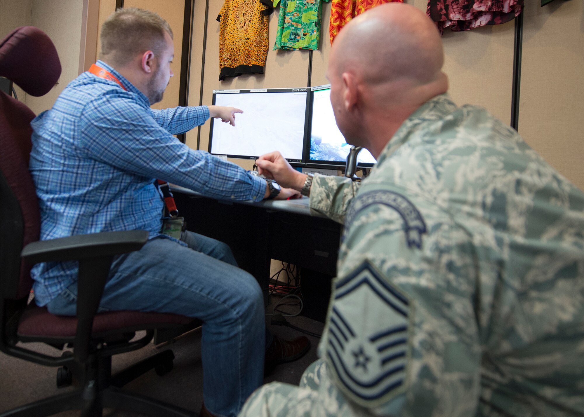
[(30, 95), (46, 94), (61, 75), (53, 42), (34, 26), (15, 29), (0, 41), (0, 75)]

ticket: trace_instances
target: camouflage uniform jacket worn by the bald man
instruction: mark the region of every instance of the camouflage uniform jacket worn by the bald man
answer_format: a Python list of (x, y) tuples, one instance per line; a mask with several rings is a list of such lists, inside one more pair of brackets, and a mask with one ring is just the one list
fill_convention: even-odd
[(516, 131), (437, 96), (359, 187), (317, 176), (310, 206), (345, 223), (319, 355), (347, 399), (584, 414), (584, 194)]

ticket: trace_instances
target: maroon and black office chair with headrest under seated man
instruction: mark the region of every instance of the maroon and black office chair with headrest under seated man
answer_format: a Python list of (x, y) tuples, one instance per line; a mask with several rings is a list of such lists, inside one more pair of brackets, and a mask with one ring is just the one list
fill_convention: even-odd
[[(44, 95), (60, 74), (57, 50), (36, 27), (20, 27), (0, 42), (0, 75), (26, 93)], [(138, 311), (96, 314), (113, 256), (140, 249), (147, 242), (148, 232), (105, 232), (38, 241), (39, 204), (28, 171), (33, 117), (25, 105), (0, 92), (0, 350), (34, 363), (61, 367), (61, 384), (67, 385), (72, 375), (79, 387), (1, 413), (0, 417), (40, 417), (69, 409), (81, 409), (82, 416), (94, 417), (102, 416), (103, 408), (151, 416), (192, 416), (178, 407), (120, 389), (152, 368), (159, 374), (171, 370), (171, 350), (114, 376), (112, 355), (147, 345), (154, 329), (189, 324), (193, 319)], [(27, 304), (32, 265), (64, 260), (79, 260), (76, 317), (50, 314), (46, 308), (37, 307), (34, 300)], [(133, 340), (136, 331), (144, 330), (144, 337)], [(44, 342), (58, 349), (67, 345), (73, 350), (51, 357), (26, 349), (23, 342)]]

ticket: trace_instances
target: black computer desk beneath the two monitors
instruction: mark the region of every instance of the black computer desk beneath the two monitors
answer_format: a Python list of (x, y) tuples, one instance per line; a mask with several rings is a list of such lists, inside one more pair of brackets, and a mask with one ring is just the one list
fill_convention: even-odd
[(255, 203), (217, 200), (176, 185), (171, 190), (187, 230), (230, 245), (239, 267), (258, 280), (266, 305), (270, 259), (281, 260), (301, 268), (301, 314), (325, 321), (331, 279), (336, 274), (340, 224), (311, 216), (307, 197)]

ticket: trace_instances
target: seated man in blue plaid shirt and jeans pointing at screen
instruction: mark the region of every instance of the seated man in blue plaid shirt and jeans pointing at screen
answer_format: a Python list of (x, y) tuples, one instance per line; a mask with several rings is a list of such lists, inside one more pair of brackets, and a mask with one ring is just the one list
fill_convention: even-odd
[[(203, 414), (235, 416), (263, 378), (263, 297), (255, 278), (237, 267), (230, 248), (192, 232), (161, 234), (164, 201), (155, 179), (210, 197), (274, 196), (266, 180), (235, 164), (194, 151), (172, 134), (209, 117), (235, 125), (233, 107), (152, 110), (173, 76), (172, 30), (155, 13), (120, 9), (103, 24), (102, 51), (32, 121), (30, 172), (39, 196), (41, 239), (147, 230), (137, 252), (114, 259), (100, 311), (158, 311), (204, 321)], [(272, 191), (270, 191), (270, 189)], [(277, 198), (298, 193), (282, 189)], [(180, 259), (180, 262), (169, 262)], [(47, 262), (32, 271), (36, 303), (75, 315), (75, 262)], [(301, 356), (306, 338), (270, 338), (266, 359)]]

